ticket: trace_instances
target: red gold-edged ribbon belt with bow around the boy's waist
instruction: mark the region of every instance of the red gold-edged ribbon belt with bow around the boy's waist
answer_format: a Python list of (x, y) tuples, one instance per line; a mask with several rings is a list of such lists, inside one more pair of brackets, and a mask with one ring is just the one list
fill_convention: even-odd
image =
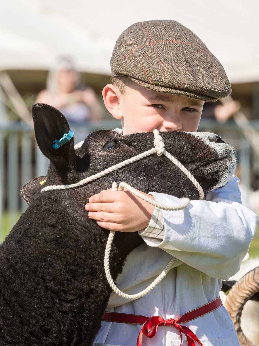
[(102, 321), (106, 322), (118, 322), (129, 324), (142, 324), (140, 334), (137, 338), (137, 346), (141, 346), (143, 335), (148, 338), (153, 338), (156, 335), (157, 328), (159, 326), (171, 326), (176, 328), (180, 332), (182, 346), (182, 334), (185, 335), (187, 340), (187, 346), (195, 346), (195, 342), (200, 346), (203, 346), (198, 337), (188, 327), (181, 326), (179, 323), (185, 323), (194, 320), (195, 318), (206, 315), (207, 313), (214, 311), (221, 307), (223, 304), (220, 297), (212, 300), (211, 302), (200, 306), (197, 309), (186, 312), (183, 316), (177, 319), (169, 318), (163, 319), (161, 316), (146, 317), (141, 315), (130, 315), (128, 313), (109, 312), (106, 311), (103, 314)]

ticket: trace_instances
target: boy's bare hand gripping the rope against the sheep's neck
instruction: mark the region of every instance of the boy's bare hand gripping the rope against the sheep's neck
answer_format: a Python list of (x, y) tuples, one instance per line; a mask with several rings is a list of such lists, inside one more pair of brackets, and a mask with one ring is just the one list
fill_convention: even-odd
[[(148, 197), (155, 200), (152, 195)], [(148, 226), (155, 207), (128, 190), (109, 189), (90, 197), (85, 209), (89, 218), (97, 220), (100, 227), (134, 232)]]

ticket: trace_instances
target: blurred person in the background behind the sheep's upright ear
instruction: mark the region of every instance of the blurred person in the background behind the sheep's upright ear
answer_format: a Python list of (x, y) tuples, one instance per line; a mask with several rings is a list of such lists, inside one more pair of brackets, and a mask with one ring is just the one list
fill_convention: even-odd
[[(58, 61), (55, 69), (48, 73), (46, 85), (47, 89), (39, 92), (35, 102), (47, 103), (59, 109), (71, 126), (83, 126), (84, 122), (103, 119), (104, 110), (96, 93), (80, 83), (80, 74), (69, 59), (61, 58)], [(82, 131), (78, 127), (74, 131), (77, 140), (83, 140), (89, 134), (85, 129)]]

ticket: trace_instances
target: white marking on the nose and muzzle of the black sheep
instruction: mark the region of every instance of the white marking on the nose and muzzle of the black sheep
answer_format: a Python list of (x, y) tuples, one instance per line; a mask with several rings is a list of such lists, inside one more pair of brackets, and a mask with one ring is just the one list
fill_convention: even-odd
[[(214, 185), (212, 190), (218, 189), (227, 184), (230, 177), (234, 174), (236, 169), (236, 160), (234, 158), (233, 149), (230, 145), (222, 142), (216, 142), (217, 135), (210, 132), (189, 132), (196, 138), (203, 140), (205, 144), (215, 153), (218, 154), (219, 160), (222, 160), (222, 174), (219, 178), (218, 184)], [(224, 159), (224, 160), (223, 160)], [(208, 171), (208, 173), (210, 173)]]

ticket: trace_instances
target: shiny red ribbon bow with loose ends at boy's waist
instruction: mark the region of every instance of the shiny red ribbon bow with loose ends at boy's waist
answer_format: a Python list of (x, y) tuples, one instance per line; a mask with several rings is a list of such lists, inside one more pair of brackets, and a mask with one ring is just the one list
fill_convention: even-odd
[(187, 346), (195, 346), (195, 342), (198, 343), (200, 346), (203, 346), (200, 342), (200, 339), (196, 337), (196, 335), (185, 326), (180, 326), (177, 322), (180, 320), (180, 318), (174, 320), (173, 318), (169, 318), (168, 320), (163, 319), (161, 316), (153, 316), (150, 317), (142, 326), (140, 334), (137, 338), (137, 346), (141, 346), (142, 343), (142, 336), (145, 335), (148, 338), (153, 338), (156, 335), (157, 328), (159, 326), (167, 326), (167, 327), (174, 327), (180, 332), (181, 337), (181, 344), (182, 346), (182, 334), (185, 335), (187, 340)]

